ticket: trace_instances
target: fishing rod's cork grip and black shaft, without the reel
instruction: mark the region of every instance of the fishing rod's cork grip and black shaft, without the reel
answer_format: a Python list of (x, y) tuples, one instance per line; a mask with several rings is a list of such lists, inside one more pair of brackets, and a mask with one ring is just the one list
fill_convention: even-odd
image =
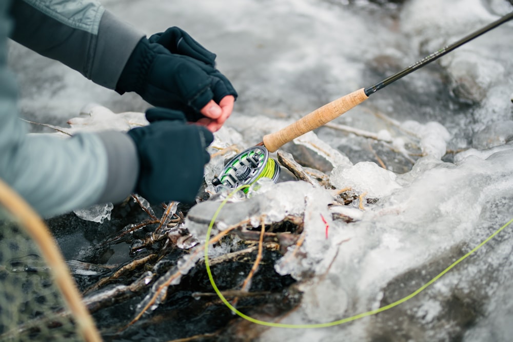
[(322, 106), (321, 108), (318, 108), (313, 112), (305, 115), (301, 119), (297, 120), (297, 122), (294, 122), (277, 132), (265, 135), (263, 138), (263, 142), (257, 144), (257, 146), (265, 146), (265, 148), (269, 152), (274, 152), (284, 144), (290, 142), (292, 139), (295, 139), (298, 136), (301, 136), (307, 132), (319, 128), (324, 124), (330, 122), (334, 118), (337, 118), (340, 115), (344, 114), (351, 108), (356, 107), (357, 105), (364, 102), (371, 94), (377, 92), (378, 90), (385, 88), (389, 84), (396, 82), (398, 79), (406, 76), (407, 74), (422, 68), (423, 66), (435, 61), (441, 56), (451, 52), (452, 50), (462, 46), (465, 43), (470, 42), (472, 39), (479, 37), (483, 33), (486, 33), (511, 19), (513, 19), (513, 12), (506, 14), (505, 16), (501, 17), (500, 19), (491, 24), (488, 24), (482, 29), (477, 30), (476, 32), (473, 32), (461, 38), (458, 42), (431, 53), (430, 55), (422, 58), (417, 63), (414, 63), (409, 67), (399, 71), (398, 73), (383, 79), (383, 81), (378, 82), (377, 84), (369, 88), (362, 88), (347, 95), (344, 95)]

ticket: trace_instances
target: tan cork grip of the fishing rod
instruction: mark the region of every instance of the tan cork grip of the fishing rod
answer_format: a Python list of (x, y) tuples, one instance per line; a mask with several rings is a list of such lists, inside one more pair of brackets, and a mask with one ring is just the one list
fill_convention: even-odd
[(264, 135), (263, 145), (269, 152), (274, 152), (292, 139), (321, 127), (369, 98), (364, 90), (365, 88), (362, 88), (344, 95), (303, 116), (278, 132)]

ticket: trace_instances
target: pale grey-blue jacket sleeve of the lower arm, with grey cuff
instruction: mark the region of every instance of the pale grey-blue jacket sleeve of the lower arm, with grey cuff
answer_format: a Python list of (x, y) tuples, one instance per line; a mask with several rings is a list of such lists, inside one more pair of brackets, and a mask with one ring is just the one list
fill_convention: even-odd
[[(8, 13), (9, 1), (1, 1), (0, 178), (45, 217), (121, 201), (134, 189), (139, 172), (136, 148), (127, 134), (81, 133), (70, 138), (27, 134), (26, 124), (18, 118), (15, 78), (6, 66), (13, 24)], [(94, 62), (91, 66), (94, 75)]]

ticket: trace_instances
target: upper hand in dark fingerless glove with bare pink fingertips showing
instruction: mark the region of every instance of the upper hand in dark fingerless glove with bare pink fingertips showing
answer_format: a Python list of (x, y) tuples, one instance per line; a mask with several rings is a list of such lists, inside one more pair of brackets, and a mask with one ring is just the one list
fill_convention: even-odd
[(135, 91), (154, 106), (183, 111), (187, 120), (212, 132), (230, 116), (237, 96), (215, 69), (215, 54), (179, 28), (141, 39), (116, 91)]

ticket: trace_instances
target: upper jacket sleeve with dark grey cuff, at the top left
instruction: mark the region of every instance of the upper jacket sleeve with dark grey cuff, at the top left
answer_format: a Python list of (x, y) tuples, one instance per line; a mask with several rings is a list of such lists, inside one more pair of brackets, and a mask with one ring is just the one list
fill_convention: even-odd
[(142, 32), (94, 0), (14, 0), (11, 38), (114, 89)]

